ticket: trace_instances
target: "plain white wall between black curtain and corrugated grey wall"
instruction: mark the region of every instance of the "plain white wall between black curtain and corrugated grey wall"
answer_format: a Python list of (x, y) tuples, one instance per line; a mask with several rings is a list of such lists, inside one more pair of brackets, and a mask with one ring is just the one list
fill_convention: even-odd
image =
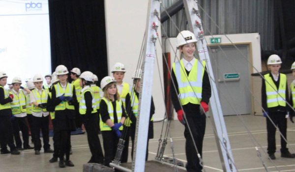
[[(148, 13), (147, 0), (105, 0), (106, 35), (109, 74), (116, 62), (125, 65), (124, 81), (132, 84), (131, 79), (136, 70), (140, 49), (146, 29)], [(161, 30), (159, 27), (158, 30)], [(159, 33), (161, 35), (161, 33)], [(161, 40), (160, 40), (161, 41)], [(165, 105), (160, 77), (163, 78), (162, 49), (157, 41), (157, 62), (154, 66), (153, 100), (155, 104), (154, 121), (164, 117)]]

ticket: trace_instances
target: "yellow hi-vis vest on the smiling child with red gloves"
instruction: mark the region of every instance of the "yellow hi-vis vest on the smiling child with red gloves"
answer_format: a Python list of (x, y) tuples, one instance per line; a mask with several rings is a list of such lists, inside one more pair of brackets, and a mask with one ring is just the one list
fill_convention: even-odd
[(202, 100), (205, 66), (205, 60), (201, 63), (196, 59), (191, 71), (187, 75), (182, 59), (180, 62), (173, 63), (173, 71), (178, 84), (178, 98), (180, 99), (181, 105), (187, 103), (200, 104)]

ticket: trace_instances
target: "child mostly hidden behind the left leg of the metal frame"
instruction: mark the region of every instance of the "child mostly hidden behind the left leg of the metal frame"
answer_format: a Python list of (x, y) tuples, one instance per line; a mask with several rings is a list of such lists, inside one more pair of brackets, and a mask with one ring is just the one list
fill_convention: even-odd
[[(131, 102), (132, 107), (134, 108), (133, 112), (135, 117), (137, 117), (137, 109), (138, 109), (138, 98), (139, 98), (139, 92), (140, 92), (140, 85), (141, 85), (141, 73), (142, 70), (138, 69), (135, 71), (132, 79), (133, 79), (133, 89), (131, 92)], [(151, 97), (150, 102), (150, 112), (149, 112), (149, 123), (148, 123), (148, 141), (149, 139), (153, 138), (153, 114), (155, 113), (155, 105), (153, 102), (153, 98)], [(130, 136), (132, 141), (132, 150), (131, 150), (131, 157), (133, 159), (133, 149), (134, 149), (134, 140), (135, 140), (135, 131), (136, 131), (136, 119), (133, 120), (133, 117), (131, 118), (131, 127), (130, 127)], [(148, 143), (147, 143), (147, 153), (146, 153), (146, 161), (148, 160)]]

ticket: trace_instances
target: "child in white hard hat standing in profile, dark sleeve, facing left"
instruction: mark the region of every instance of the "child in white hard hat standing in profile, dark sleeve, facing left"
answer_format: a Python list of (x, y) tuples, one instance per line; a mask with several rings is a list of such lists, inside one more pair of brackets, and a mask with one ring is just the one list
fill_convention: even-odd
[(86, 128), (89, 149), (92, 154), (88, 163), (103, 164), (104, 157), (100, 140), (98, 138), (99, 121), (96, 110), (96, 101), (93, 90), (90, 87), (92, 82), (93, 74), (91, 72), (85, 71), (80, 75), (80, 86), (82, 87), (82, 91), (79, 112)]

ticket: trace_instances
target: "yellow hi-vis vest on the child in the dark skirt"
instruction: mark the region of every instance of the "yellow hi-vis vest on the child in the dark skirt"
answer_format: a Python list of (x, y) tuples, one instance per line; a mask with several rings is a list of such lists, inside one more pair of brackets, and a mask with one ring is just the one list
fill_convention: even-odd
[[(69, 97), (73, 97), (73, 90), (74, 90), (74, 86), (73, 84), (70, 83), (66, 83), (66, 88), (65, 90), (63, 90), (63, 88), (60, 86), (60, 83), (57, 83), (56, 85), (54, 85), (54, 88), (56, 90), (56, 97), (60, 97), (63, 96), (69, 96)], [(56, 107), (55, 107), (55, 111), (57, 110), (65, 110), (65, 109), (70, 109), (70, 110), (75, 110), (74, 105), (70, 105), (68, 101), (61, 101)]]

